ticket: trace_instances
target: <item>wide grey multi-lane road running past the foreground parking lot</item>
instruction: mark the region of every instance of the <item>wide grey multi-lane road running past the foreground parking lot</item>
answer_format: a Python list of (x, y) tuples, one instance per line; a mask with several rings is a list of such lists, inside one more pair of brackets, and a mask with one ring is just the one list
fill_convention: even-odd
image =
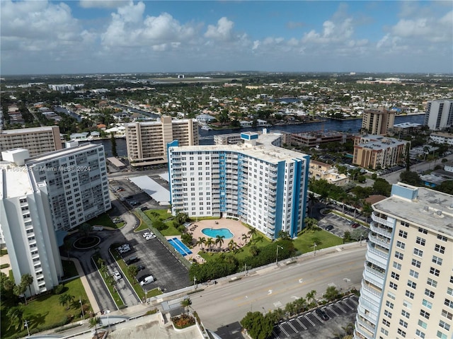
[(217, 331), (230, 327), (233, 331), (234, 323), (248, 311), (284, 309), (285, 304), (305, 297), (312, 289), (316, 290), (319, 299), (331, 285), (338, 289), (359, 287), (366, 248), (363, 243), (363, 246), (355, 244), (328, 254), (307, 253), (291, 265), (274, 264), (243, 276), (241, 280), (210, 285), (190, 296), (192, 308), (206, 328)]

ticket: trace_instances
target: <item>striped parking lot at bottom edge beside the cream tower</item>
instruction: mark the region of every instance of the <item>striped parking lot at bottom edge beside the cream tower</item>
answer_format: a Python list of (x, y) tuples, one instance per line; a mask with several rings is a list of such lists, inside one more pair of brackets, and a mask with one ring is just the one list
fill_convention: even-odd
[(341, 333), (348, 323), (355, 322), (358, 297), (352, 295), (340, 301), (322, 306), (329, 319), (323, 320), (316, 311), (278, 323), (270, 338), (333, 338)]

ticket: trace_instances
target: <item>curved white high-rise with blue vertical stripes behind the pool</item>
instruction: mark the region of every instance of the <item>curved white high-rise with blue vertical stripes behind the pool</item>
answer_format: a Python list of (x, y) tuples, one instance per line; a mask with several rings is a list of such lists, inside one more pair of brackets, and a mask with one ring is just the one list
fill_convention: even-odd
[[(232, 217), (270, 239), (304, 225), (309, 156), (282, 149), (280, 135), (242, 133), (243, 144), (168, 149), (173, 214)], [(258, 140), (258, 142), (257, 142)]]

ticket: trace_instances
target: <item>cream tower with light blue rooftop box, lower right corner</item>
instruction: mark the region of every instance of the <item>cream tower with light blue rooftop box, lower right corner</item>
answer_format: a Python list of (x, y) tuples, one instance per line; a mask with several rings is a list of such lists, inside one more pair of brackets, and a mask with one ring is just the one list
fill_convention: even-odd
[(452, 338), (452, 195), (398, 183), (372, 207), (355, 338)]

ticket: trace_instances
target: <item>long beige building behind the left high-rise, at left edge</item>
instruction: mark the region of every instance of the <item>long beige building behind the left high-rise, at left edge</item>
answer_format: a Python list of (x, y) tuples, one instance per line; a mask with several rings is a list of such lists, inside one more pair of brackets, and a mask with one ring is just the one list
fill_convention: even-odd
[(0, 130), (0, 154), (8, 149), (28, 149), (30, 156), (38, 156), (62, 149), (58, 126)]

